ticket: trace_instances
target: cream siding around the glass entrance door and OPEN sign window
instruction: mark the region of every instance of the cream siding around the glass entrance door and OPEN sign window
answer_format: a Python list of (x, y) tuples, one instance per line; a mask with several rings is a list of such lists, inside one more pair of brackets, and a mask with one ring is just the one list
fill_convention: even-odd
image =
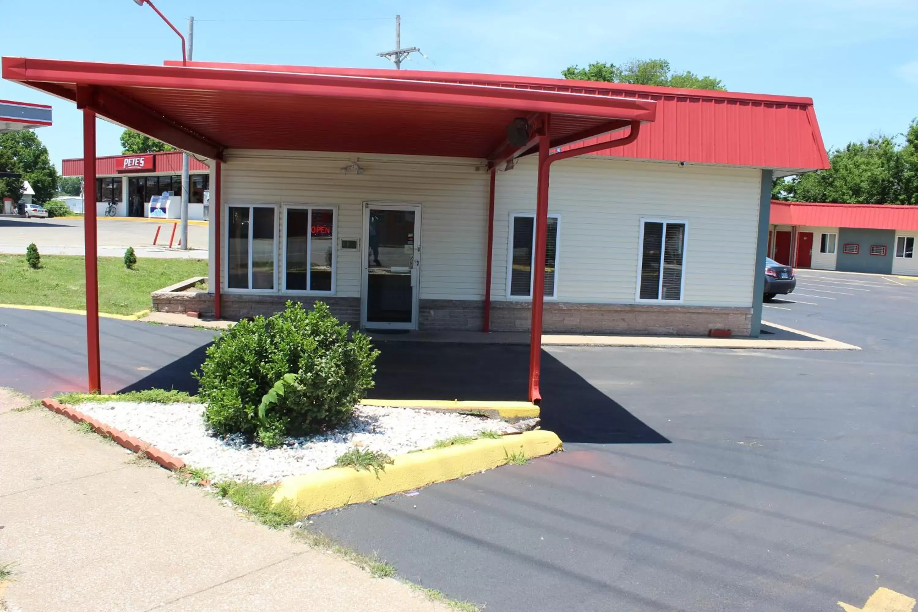
[[(420, 297), (482, 299), (488, 192), (484, 164), (361, 154), (363, 174), (341, 172), (352, 158), (345, 153), (230, 150), (222, 169), (223, 203), (336, 207), (334, 293), (343, 297), (360, 296), (364, 202), (420, 205)], [(276, 235), (283, 236), (283, 228)], [(341, 239), (358, 239), (359, 249), (340, 250)]]

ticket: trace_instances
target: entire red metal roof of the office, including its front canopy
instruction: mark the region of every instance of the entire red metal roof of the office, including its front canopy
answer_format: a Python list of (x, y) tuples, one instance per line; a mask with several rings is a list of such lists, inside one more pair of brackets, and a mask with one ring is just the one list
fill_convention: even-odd
[[(225, 148), (498, 158), (515, 117), (550, 114), (552, 146), (610, 139), (640, 160), (828, 168), (812, 99), (533, 77), (167, 61), (4, 58), (3, 77), (207, 157)], [(605, 135), (605, 136), (604, 136)]]

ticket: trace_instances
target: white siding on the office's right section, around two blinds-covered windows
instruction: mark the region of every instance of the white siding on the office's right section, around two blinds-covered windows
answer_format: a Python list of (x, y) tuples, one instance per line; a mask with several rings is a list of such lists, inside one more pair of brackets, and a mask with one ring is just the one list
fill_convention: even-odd
[[(495, 218), (534, 211), (534, 156), (498, 172)], [(682, 304), (752, 306), (761, 172), (582, 158), (552, 166), (549, 213), (564, 217), (560, 302), (634, 304), (641, 219), (684, 219)], [(491, 295), (507, 287), (509, 224), (494, 225)]]

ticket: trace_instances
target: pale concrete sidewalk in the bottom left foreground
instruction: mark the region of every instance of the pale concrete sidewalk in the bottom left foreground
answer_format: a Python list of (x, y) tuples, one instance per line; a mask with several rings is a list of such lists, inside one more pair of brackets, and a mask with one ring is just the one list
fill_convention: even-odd
[(0, 389), (0, 562), (17, 570), (0, 609), (447, 609), (238, 517), (63, 417), (11, 412), (13, 402)]

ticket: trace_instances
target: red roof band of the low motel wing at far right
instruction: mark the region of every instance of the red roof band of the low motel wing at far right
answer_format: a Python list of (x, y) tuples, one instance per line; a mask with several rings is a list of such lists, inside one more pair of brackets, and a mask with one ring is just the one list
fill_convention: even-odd
[(918, 206), (771, 201), (773, 225), (918, 231)]

